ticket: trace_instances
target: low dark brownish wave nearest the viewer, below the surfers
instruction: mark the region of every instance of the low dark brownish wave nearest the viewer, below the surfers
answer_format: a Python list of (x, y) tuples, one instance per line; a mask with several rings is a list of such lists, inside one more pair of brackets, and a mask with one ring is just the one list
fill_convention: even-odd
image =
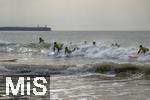
[(29, 65), (5, 64), (0, 66), (1, 75), (83, 75), (104, 74), (114, 77), (150, 78), (150, 65), (103, 62), (86, 65)]

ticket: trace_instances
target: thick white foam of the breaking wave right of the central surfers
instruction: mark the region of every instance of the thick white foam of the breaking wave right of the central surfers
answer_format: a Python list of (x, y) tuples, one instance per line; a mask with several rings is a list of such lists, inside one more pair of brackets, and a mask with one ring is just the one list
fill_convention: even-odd
[(116, 59), (116, 60), (136, 60), (136, 61), (150, 61), (150, 54), (141, 54), (137, 58), (130, 58), (132, 54), (136, 54), (137, 47), (111, 47), (109, 45), (100, 44), (81, 45), (80, 49), (74, 52), (74, 55), (81, 55), (88, 58), (100, 59)]

